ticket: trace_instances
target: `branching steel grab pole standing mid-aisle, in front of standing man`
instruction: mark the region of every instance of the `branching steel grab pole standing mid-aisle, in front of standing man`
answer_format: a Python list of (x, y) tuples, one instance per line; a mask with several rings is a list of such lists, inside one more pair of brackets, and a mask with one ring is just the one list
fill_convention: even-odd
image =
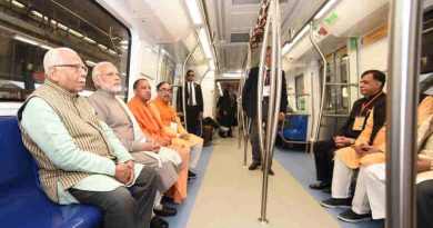
[[(268, 20), (266, 20), (266, 28), (264, 30), (264, 36), (269, 33), (269, 23), (272, 22), (272, 67), (271, 67), (271, 93), (269, 97), (269, 109), (268, 109), (268, 119), (266, 119), (266, 138), (265, 138), (265, 149), (264, 149), (264, 158), (262, 157), (262, 166), (263, 166), (263, 184), (262, 184), (262, 207), (261, 207), (261, 217), (259, 220), (262, 224), (268, 222), (266, 219), (266, 205), (268, 205), (268, 182), (269, 182), (269, 165), (270, 165), (270, 149), (271, 149), (271, 132), (272, 132), (272, 115), (275, 108), (275, 75), (276, 75), (276, 32), (278, 32), (278, 24), (276, 24), (276, 0), (271, 0), (270, 9), (268, 12)], [(262, 58), (265, 57), (266, 53), (266, 43), (268, 43), (268, 37), (266, 39), (263, 38), (263, 46), (262, 46)], [(261, 59), (262, 60), (262, 59)], [(263, 59), (264, 60), (264, 59)], [(262, 62), (261, 62), (262, 63)], [(263, 61), (264, 65), (264, 61)], [(262, 65), (260, 67), (263, 67)], [(260, 90), (263, 90), (263, 69), (260, 69), (261, 75), (259, 75), (259, 88)], [(260, 103), (260, 110), (258, 109), (258, 116), (262, 116), (262, 107), (261, 102), (263, 99), (263, 91), (258, 90), (258, 105)], [(259, 97), (260, 91), (260, 97)], [(260, 98), (260, 99), (259, 99)], [(260, 117), (261, 118), (261, 117)], [(261, 119), (258, 119), (258, 126), (259, 132), (262, 131), (262, 121)], [(260, 133), (259, 133), (260, 136)], [(262, 136), (263, 137), (263, 136)], [(262, 143), (262, 141), (260, 141)], [(262, 155), (263, 155), (262, 153)], [(264, 162), (263, 162), (264, 161)]]

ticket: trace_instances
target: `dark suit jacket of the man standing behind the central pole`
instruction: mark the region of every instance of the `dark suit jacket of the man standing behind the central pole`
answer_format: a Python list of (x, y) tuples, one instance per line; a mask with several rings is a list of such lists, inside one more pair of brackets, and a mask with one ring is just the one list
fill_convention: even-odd
[[(250, 117), (255, 117), (258, 113), (258, 78), (259, 68), (251, 68), (245, 85), (242, 90), (242, 108)], [(286, 112), (288, 110), (288, 87), (285, 86), (285, 75), (283, 71), (283, 80), (281, 81), (281, 100), (280, 112)]]

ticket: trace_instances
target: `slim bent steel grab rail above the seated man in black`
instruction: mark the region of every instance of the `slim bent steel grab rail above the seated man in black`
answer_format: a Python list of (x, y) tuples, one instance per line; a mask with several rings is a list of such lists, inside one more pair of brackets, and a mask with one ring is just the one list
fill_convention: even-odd
[(315, 50), (319, 52), (320, 57), (323, 60), (323, 81), (322, 81), (322, 100), (320, 102), (320, 109), (319, 109), (319, 118), (318, 118), (318, 126), (315, 127), (315, 133), (314, 139), (311, 142), (310, 146), (310, 152), (313, 150), (313, 143), (319, 140), (319, 131), (320, 131), (320, 123), (322, 122), (322, 116), (323, 116), (323, 107), (324, 107), (324, 99), (325, 99), (325, 90), (326, 90), (326, 70), (328, 70), (328, 63), (326, 59), (324, 58), (322, 51), (320, 50), (318, 43), (313, 39), (313, 22), (310, 22), (310, 41), (313, 43)]

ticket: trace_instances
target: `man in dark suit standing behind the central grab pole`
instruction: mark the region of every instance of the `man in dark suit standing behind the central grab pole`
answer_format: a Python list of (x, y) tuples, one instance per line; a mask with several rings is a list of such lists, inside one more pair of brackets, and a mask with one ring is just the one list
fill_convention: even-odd
[[(270, 47), (266, 49), (266, 59), (264, 62), (265, 72), (263, 76), (264, 79), (264, 88), (263, 88), (263, 121), (266, 121), (269, 110), (269, 96), (270, 96), (270, 67), (271, 67), (271, 53), (272, 50)], [(288, 89), (285, 86), (285, 76), (284, 71), (282, 75), (282, 83), (281, 83), (281, 99), (280, 99), (280, 116), (279, 119), (284, 119), (285, 111), (288, 108)], [(249, 77), (245, 81), (245, 86), (242, 90), (242, 108), (245, 111), (246, 116), (251, 118), (251, 128), (250, 128), (250, 139), (251, 139), (251, 148), (252, 148), (252, 159), (253, 162), (249, 167), (250, 170), (258, 169), (262, 163), (262, 152), (260, 151), (259, 145), (259, 129), (258, 129), (258, 79), (259, 79), (259, 68), (251, 68)], [(274, 175), (272, 169), (269, 170), (270, 175)]]

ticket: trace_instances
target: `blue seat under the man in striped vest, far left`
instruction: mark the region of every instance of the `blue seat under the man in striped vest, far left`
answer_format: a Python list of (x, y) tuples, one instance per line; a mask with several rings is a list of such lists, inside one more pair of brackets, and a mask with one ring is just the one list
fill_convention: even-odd
[(57, 205), (38, 187), (37, 166), (16, 117), (0, 117), (0, 227), (101, 227), (98, 208)]

